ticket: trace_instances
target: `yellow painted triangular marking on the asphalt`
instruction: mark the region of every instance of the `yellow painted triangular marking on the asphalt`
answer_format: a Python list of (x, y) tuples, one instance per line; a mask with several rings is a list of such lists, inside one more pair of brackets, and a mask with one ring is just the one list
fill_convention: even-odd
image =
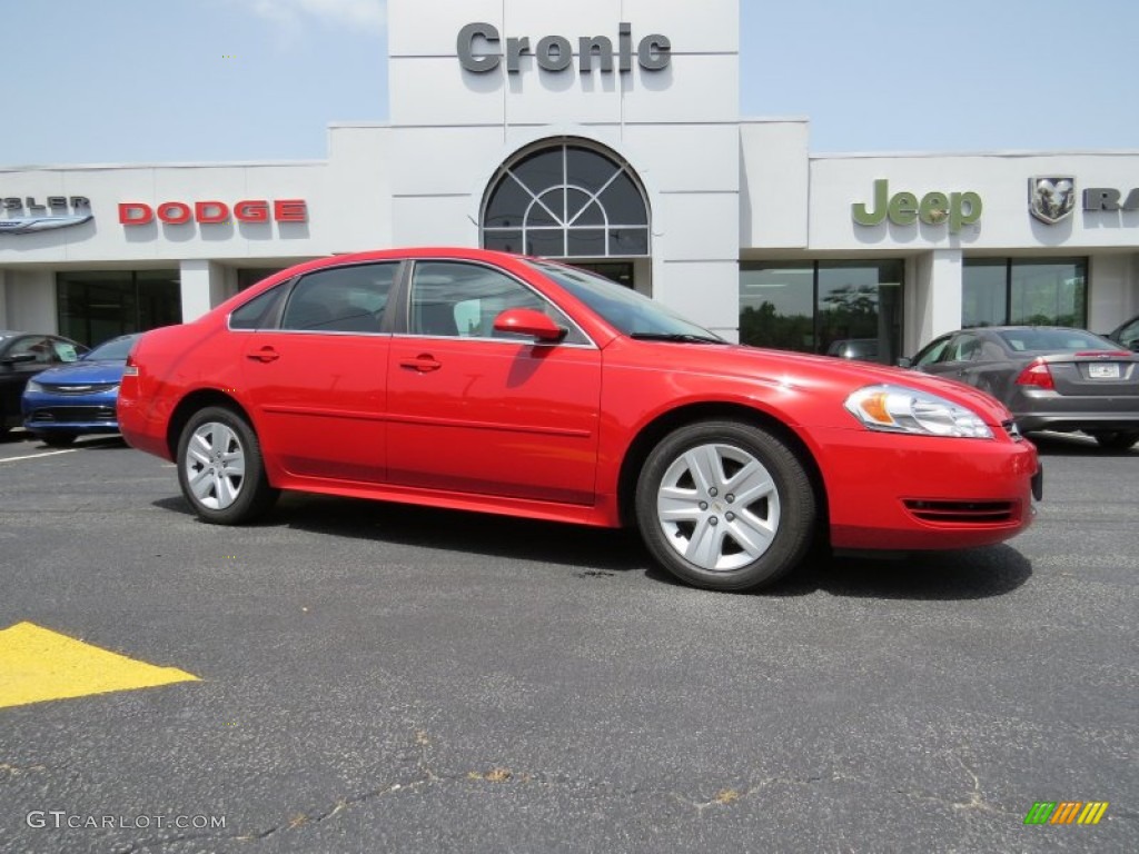
[(0, 708), (197, 681), (177, 667), (137, 662), (34, 623), (0, 631)]

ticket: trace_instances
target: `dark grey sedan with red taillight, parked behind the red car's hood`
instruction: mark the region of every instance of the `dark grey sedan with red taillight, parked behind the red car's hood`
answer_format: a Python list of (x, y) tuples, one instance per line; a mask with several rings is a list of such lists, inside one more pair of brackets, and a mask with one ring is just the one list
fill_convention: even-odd
[(988, 392), (1024, 433), (1082, 430), (1114, 450), (1139, 442), (1139, 355), (1082, 329), (961, 329), (901, 363)]

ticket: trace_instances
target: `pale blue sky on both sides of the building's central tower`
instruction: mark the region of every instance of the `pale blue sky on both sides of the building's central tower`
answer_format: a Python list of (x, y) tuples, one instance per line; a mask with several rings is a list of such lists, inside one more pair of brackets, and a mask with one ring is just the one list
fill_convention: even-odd
[[(1137, 33), (1139, 0), (740, 0), (740, 109), (814, 154), (1133, 151)], [(0, 167), (323, 159), (387, 120), (384, 0), (0, 0)]]

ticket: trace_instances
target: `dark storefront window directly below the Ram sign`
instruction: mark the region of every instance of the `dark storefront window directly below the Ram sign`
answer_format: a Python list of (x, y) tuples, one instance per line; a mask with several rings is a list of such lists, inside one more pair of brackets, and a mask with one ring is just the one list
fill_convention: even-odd
[(962, 326), (1088, 326), (1087, 258), (967, 258)]

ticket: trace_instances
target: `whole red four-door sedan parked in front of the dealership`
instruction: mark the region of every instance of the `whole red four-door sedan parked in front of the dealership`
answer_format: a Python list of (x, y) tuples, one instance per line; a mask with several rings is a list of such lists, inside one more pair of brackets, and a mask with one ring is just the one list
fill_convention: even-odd
[(118, 420), (205, 522), (297, 490), (636, 525), (714, 590), (770, 584), (820, 537), (1001, 542), (1040, 496), (1035, 450), (986, 394), (734, 345), (591, 273), (478, 249), (301, 264), (148, 332)]

